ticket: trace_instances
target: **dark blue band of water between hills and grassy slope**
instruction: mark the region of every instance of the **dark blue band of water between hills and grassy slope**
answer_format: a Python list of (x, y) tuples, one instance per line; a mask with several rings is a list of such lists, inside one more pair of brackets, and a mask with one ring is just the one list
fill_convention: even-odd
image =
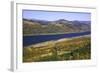
[(57, 34), (57, 35), (35, 35), (35, 36), (23, 36), (23, 46), (28, 46), (40, 42), (58, 40), (61, 38), (72, 38), (82, 35), (88, 35), (91, 32), (81, 32), (81, 33), (68, 33), (68, 34)]

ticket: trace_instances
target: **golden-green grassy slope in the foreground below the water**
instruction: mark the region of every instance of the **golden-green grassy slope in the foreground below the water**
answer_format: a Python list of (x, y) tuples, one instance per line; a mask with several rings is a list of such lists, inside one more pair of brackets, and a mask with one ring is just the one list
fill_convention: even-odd
[(23, 62), (86, 60), (91, 58), (91, 38), (78, 37), (23, 47)]

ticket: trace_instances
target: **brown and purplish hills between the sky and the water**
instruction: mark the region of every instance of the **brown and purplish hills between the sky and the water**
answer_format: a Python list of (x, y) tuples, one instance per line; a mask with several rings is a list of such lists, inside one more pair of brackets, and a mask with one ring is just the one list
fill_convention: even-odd
[(90, 21), (68, 21), (59, 19), (55, 21), (23, 19), (24, 35), (58, 34), (86, 32), (91, 30)]

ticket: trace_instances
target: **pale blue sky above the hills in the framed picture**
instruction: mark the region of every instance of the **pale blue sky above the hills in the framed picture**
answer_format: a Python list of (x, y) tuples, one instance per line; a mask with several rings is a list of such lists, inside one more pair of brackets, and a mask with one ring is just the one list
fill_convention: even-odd
[(54, 12), (54, 11), (37, 11), (37, 10), (23, 10), (23, 18), (39, 19), (47, 21), (55, 21), (59, 19), (66, 19), (69, 21), (91, 21), (91, 13), (82, 12)]

